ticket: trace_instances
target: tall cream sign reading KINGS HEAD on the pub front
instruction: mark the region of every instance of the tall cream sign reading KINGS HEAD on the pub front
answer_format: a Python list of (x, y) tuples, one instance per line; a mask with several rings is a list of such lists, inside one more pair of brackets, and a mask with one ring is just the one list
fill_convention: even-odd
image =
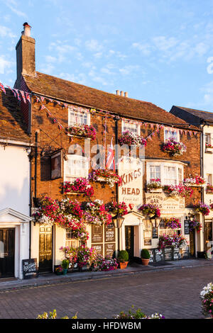
[(143, 163), (140, 159), (123, 157), (119, 160), (119, 202), (134, 206), (143, 203)]

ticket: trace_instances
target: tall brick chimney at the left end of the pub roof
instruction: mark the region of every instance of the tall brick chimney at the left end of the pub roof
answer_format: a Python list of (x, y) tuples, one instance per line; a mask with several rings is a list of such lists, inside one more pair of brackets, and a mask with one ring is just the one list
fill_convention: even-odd
[(23, 31), (16, 45), (16, 88), (20, 89), (21, 74), (35, 77), (35, 39), (31, 37), (31, 26), (23, 23)]

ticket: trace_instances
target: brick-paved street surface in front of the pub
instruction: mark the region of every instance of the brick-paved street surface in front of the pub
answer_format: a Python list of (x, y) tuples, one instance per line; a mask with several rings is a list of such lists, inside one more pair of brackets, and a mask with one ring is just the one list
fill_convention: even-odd
[[(160, 312), (166, 318), (202, 318), (200, 290), (213, 280), (213, 262), (200, 259), (172, 263), (148, 269), (134, 265), (125, 273), (118, 270), (110, 275), (70, 273), (63, 279), (49, 277), (49, 284), (43, 276), (40, 277), (43, 283), (37, 286), (32, 283), (25, 288), (8, 285), (0, 290), (0, 318), (33, 319), (53, 309), (58, 317), (72, 317), (78, 312), (80, 319), (112, 318), (122, 310), (129, 310), (131, 305), (148, 315)], [(15, 281), (8, 283), (12, 282)]]

